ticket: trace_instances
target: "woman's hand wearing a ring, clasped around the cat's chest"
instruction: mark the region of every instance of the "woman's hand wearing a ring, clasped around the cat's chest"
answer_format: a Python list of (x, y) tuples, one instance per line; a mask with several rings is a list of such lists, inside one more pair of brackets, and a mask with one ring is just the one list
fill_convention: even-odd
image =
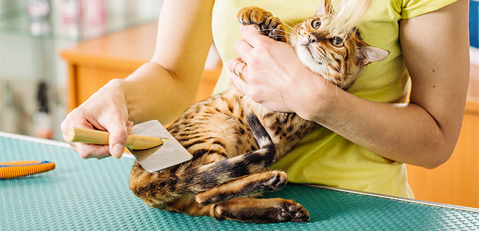
[(308, 70), (290, 44), (265, 37), (251, 25), (242, 26), (240, 32), (244, 39), (234, 46), (239, 56), (228, 63), (232, 83), (270, 110), (301, 116), (301, 105), (316, 100), (309, 93), (321, 95), (321, 87), (328, 81)]

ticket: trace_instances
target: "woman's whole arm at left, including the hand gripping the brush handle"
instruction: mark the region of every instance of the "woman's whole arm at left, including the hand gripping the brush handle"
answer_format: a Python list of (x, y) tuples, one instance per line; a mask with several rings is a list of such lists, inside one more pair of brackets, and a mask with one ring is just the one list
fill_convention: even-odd
[[(120, 158), (127, 121), (172, 121), (194, 102), (212, 42), (213, 0), (166, 0), (161, 7), (154, 57), (126, 79), (114, 79), (70, 112), (61, 124), (110, 132), (109, 146), (70, 143), (82, 158)], [(135, 46), (135, 44), (131, 44)]]

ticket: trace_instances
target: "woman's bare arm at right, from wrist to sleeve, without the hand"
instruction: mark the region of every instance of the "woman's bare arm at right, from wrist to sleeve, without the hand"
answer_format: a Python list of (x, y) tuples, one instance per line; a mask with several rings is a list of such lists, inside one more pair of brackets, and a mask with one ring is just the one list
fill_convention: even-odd
[[(447, 161), (459, 137), (466, 103), (467, 12), (468, 1), (459, 1), (400, 22), (402, 51), (412, 81), (408, 105), (371, 103), (347, 95), (341, 100), (344, 105), (325, 103), (332, 107), (324, 112), (342, 116), (324, 114), (318, 120), (388, 159), (426, 168)], [(353, 122), (341, 122), (347, 120)]]

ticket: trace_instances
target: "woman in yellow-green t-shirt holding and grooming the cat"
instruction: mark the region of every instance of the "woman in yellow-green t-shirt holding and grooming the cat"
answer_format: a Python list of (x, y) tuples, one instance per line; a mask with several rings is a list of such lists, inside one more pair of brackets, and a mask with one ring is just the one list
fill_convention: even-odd
[[(108, 147), (70, 145), (82, 158), (120, 158), (128, 120), (168, 124), (193, 103), (214, 38), (225, 64), (215, 92), (232, 81), (265, 107), (325, 127), (275, 165), (290, 182), (413, 197), (403, 163), (439, 166), (459, 136), (468, 84), (468, 1), (372, 1), (359, 31), (390, 57), (370, 65), (348, 92), (307, 70), (291, 46), (235, 21), (239, 8), (254, 5), (299, 22), (317, 4), (164, 1), (151, 62), (125, 80), (110, 81), (68, 114), (63, 133), (70, 126), (109, 131)], [(236, 65), (242, 60), (246, 67)], [(239, 68), (245, 81), (231, 74)]]

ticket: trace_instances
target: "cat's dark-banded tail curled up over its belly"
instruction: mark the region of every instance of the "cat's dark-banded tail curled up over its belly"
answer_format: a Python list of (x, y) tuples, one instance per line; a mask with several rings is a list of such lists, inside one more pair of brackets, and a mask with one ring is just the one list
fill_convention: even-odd
[(259, 149), (237, 157), (199, 166), (197, 179), (194, 180), (196, 182), (194, 191), (206, 190), (230, 180), (247, 176), (250, 173), (262, 171), (274, 163), (276, 157), (275, 144), (256, 114), (247, 115), (247, 123), (256, 139), (256, 143), (259, 145)]

